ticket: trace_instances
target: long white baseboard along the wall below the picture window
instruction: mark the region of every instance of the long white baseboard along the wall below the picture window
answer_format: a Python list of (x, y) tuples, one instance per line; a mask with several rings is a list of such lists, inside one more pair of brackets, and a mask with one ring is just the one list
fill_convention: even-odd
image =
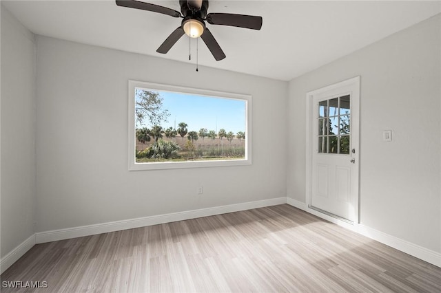
[(152, 226), (157, 224), (170, 223), (172, 221), (183, 221), (186, 219), (196, 219), (198, 217), (207, 217), (225, 213), (238, 212), (240, 210), (250, 210), (252, 208), (263, 208), (265, 206), (275, 206), (277, 204), (286, 204), (286, 197), (273, 199), (264, 199), (256, 202), (245, 202), (242, 204), (229, 204), (227, 206), (216, 206), (214, 208), (201, 208), (198, 210), (188, 210), (185, 212), (170, 213), (165, 215), (154, 215), (150, 217), (141, 217), (136, 219), (127, 219), (122, 221), (112, 221), (102, 224), (80, 226), (74, 228), (52, 230), (37, 233), (37, 243), (58, 241), (76, 237), (90, 236), (119, 230)]

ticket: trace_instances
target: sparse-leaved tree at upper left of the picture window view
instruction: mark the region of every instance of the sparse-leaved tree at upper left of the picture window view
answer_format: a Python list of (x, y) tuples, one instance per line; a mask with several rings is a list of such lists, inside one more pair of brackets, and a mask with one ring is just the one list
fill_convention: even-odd
[(159, 93), (147, 91), (145, 89), (136, 89), (135, 96), (135, 114), (137, 123), (140, 125), (143, 124), (146, 118), (152, 125), (161, 124), (162, 121), (167, 122), (170, 113), (168, 113), (167, 109), (162, 109), (163, 98), (159, 96)]

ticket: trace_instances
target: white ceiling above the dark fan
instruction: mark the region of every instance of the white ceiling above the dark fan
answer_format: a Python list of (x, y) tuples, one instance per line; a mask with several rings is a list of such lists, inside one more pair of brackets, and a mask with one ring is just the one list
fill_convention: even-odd
[[(178, 0), (144, 1), (180, 11)], [(168, 54), (156, 53), (181, 19), (109, 0), (1, 3), (34, 34), (196, 62), (196, 40), (189, 61), (187, 36)], [(440, 13), (441, 1), (209, 1), (208, 12), (259, 15), (263, 27), (207, 24), (227, 58), (216, 62), (199, 40), (200, 65), (291, 80)]]

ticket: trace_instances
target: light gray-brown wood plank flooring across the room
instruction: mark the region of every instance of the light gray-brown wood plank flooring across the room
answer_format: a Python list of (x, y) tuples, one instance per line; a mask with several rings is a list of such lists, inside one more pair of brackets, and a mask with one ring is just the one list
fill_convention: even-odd
[(1, 292), (441, 292), (441, 268), (287, 204), (34, 246)]

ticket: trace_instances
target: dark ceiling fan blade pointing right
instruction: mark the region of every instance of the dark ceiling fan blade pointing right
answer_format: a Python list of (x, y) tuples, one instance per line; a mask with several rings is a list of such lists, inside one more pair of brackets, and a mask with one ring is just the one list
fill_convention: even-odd
[(252, 15), (230, 14), (230, 13), (209, 13), (207, 21), (212, 25), (231, 25), (238, 28), (251, 28), (260, 30), (262, 28), (262, 17)]

